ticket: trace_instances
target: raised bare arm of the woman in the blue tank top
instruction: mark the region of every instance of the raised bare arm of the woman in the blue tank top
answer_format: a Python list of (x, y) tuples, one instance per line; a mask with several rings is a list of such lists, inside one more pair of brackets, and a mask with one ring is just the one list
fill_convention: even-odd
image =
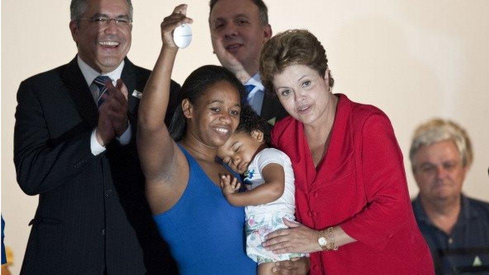
[(173, 42), (173, 30), (192, 20), (185, 16), (187, 6), (177, 6), (161, 23), (161, 52), (151, 73), (138, 114), (138, 152), (147, 184), (168, 178), (176, 166), (178, 148), (165, 125), (165, 113), (170, 94), (170, 77), (178, 48)]

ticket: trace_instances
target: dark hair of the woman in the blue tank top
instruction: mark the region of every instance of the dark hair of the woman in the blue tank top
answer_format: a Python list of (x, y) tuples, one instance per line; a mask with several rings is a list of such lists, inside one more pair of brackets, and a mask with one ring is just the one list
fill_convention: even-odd
[(239, 101), (244, 95), (244, 86), (237, 78), (224, 67), (215, 65), (202, 66), (193, 71), (185, 80), (178, 93), (178, 103), (171, 118), (168, 131), (174, 141), (180, 141), (185, 135), (187, 129), (187, 121), (183, 115), (182, 101), (188, 99), (190, 103), (195, 105), (199, 98), (204, 94), (204, 91), (212, 84), (219, 81), (227, 81), (234, 86), (239, 92)]

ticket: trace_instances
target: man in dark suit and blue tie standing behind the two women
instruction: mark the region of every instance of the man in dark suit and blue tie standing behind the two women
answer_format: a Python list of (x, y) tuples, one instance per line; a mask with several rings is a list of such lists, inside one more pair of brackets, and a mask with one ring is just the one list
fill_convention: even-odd
[(288, 114), (274, 92), (265, 91), (260, 79), (260, 52), (272, 37), (267, 6), (262, 0), (211, 0), (209, 6), (215, 55), (246, 88), (246, 102), (274, 125)]

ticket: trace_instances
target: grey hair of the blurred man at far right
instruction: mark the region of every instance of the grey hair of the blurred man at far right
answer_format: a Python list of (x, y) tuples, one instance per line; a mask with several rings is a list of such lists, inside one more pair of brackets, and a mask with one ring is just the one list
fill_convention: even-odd
[(472, 164), (473, 152), (470, 138), (465, 129), (451, 120), (431, 119), (419, 125), (414, 131), (409, 149), (409, 159), (414, 170), (414, 155), (422, 146), (429, 146), (440, 141), (451, 140), (457, 147), (462, 166), (468, 167)]

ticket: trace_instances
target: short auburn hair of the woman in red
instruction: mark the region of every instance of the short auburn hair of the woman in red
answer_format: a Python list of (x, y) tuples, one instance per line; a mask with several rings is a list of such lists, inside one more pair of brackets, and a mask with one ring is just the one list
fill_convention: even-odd
[[(260, 57), (260, 77), (267, 91), (274, 93), (274, 76), (291, 65), (306, 65), (322, 77), (328, 70), (323, 45), (307, 30), (288, 30), (265, 43)], [(331, 72), (328, 78), (332, 88), (335, 80)]]

